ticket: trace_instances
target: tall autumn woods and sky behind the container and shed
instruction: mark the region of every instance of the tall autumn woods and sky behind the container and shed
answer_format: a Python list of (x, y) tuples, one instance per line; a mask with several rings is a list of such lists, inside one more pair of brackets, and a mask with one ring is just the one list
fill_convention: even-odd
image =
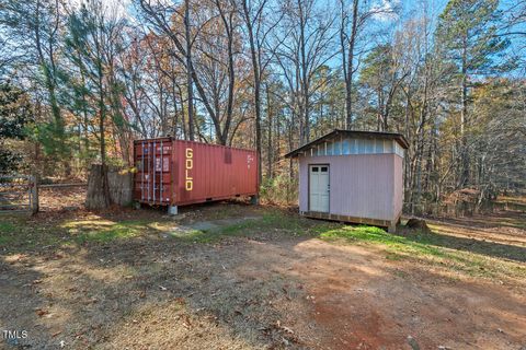
[(410, 143), (407, 210), (526, 186), (526, 1), (0, 1), (0, 172), (132, 166), (134, 139), (288, 151), (334, 128)]

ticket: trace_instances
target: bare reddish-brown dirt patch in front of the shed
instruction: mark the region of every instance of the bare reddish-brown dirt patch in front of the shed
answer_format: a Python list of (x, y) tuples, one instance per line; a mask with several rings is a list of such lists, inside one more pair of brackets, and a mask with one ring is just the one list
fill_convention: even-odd
[(305, 320), (311, 320), (319, 338), (310, 346), (400, 349), (409, 348), (409, 336), (423, 349), (518, 349), (526, 342), (524, 290), (456, 279), (389, 261), (373, 248), (319, 240), (251, 249), (305, 287), (307, 317), (294, 327), (308, 338)]

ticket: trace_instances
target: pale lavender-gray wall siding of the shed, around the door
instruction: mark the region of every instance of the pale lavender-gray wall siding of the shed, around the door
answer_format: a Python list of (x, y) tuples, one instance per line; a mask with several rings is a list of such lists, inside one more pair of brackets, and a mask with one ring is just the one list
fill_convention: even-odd
[(397, 153), (300, 155), (299, 210), (309, 211), (309, 164), (329, 164), (331, 214), (397, 220), (403, 200), (403, 160)]

